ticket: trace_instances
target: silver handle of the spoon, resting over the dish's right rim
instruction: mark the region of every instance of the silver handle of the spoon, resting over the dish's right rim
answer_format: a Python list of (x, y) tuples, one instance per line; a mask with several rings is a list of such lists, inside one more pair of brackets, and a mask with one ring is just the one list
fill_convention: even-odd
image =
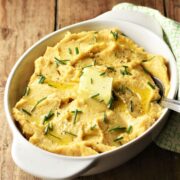
[(180, 113), (180, 101), (178, 100), (163, 98), (161, 104), (163, 107)]

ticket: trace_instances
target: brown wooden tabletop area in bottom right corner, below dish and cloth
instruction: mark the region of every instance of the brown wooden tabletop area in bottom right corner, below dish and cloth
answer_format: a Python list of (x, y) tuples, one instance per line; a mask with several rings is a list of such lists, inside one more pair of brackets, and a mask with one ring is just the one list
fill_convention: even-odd
[(179, 160), (179, 154), (162, 150), (152, 143), (129, 162), (95, 176), (80, 177), (79, 180), (178, 180)]

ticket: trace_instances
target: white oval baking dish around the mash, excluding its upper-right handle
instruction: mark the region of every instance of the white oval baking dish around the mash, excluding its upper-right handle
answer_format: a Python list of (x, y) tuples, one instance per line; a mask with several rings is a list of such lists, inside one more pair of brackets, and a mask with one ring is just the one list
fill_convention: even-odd
[(66, 31), (100, 30), (117, 27), (146, 51), (163, 55), (169, 62), (171, 88), (168, 98), (177, 92), (177, 69), (175, 59), (164, 41), (151, 31), (125, 21), (89, 20), (53, 32), (29, 48), (13, 67), (5, 88), (4, 106), (9, 126), (13, 133), (12, 157), (24, 171), (48, 179), (66, 179), (79, 175), (92, 175), (114, 168), (141, 152), (160, 132), (169, 110), (164, 109), (160, 118), (141, 136), (123, 146), (98, 155), (72, 157), (53, 154), (28, 142), (16, 127), (11, 110), (33, 73), (34, 60), (41, 56), (47, 46), (55, 45)]

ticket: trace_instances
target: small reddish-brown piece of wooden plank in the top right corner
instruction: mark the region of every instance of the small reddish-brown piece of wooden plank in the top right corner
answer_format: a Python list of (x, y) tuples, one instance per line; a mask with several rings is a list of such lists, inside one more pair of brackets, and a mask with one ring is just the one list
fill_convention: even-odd
[(165, 0), (167, 17), (180, 22), (180, 0)]

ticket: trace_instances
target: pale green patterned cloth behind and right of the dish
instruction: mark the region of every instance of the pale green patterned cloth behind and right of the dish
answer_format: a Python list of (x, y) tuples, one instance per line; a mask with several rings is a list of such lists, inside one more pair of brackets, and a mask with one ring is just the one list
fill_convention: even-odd
[[(180, 23), (164, 17), (159, 11), (130, 3), (120, 3), (113, 9), (138, 11), (154, 17), (161, 25), (164, 32), (164, 41), (168, 44), (176, 58), (180, 79)], [(179, 83), (180, 89), (180, 83)], [(178, 94), (180, 100), (180, 91)], [(155, 140), (161, 148), (180, 153), (180, 114), (172, 112), (169, 120)]]

